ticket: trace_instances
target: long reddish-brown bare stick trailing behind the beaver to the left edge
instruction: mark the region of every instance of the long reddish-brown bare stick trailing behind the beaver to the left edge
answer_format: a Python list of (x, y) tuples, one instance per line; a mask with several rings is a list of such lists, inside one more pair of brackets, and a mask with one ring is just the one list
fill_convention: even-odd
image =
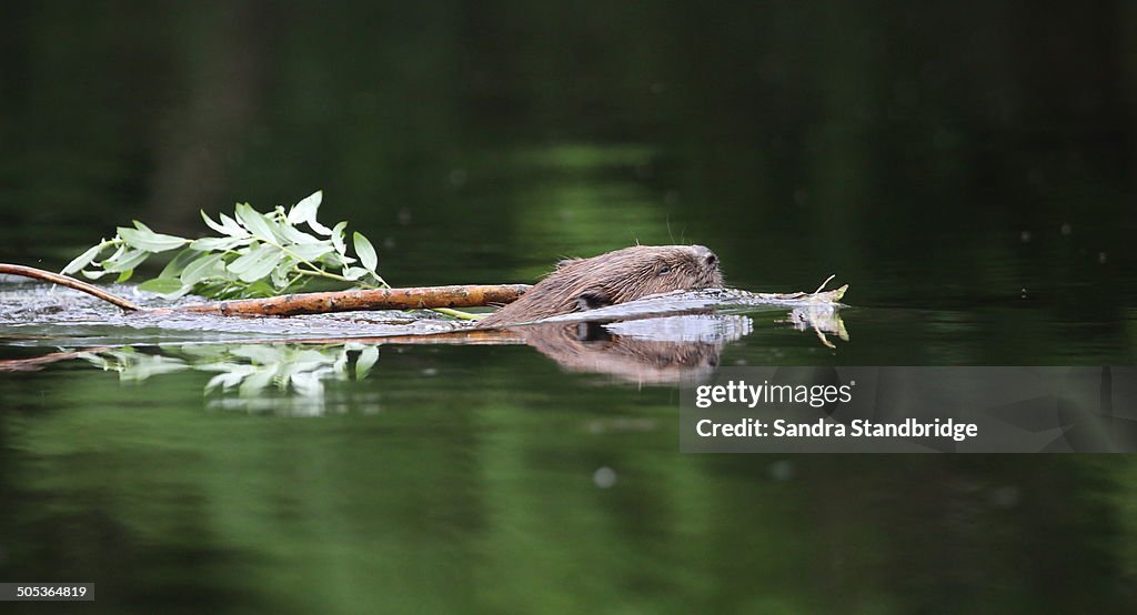
[(36, 269), (35, 267), (0, 263), (0, 274), (20, 275), (75, 289), (114, 304), (127, 311), (146, 311), (148, 314), (190, 311), (197, 314), (216, 314), (219, 316), (294, 316), (298, 314), (326, 314), (330, 311), (480, 307), (512, 302), (530, 289), (528, 284), (496, 284), (347, 290), (147, 309), (93, 284), (88, 284), (66, 275)]

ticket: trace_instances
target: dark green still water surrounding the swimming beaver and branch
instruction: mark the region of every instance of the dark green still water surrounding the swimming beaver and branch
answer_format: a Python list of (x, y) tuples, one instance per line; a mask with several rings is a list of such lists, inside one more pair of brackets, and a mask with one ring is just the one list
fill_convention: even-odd
[[(1137, 355), (1124, 2), (48, 2), (0, 18), (0, 261), (58, 269), (132, 218), (192, 235), (198, 208), (323, 189), (325, 219), (376, 240), (399, 285), (530, 281), (637, 240), (708, 246), (739, 288), (850, 284), (848, 341), (754, 313), (723, 365)], [(250, 371), (264, 389), (207, 391), (206, 351), (152, 344), (222, 334), (20, 322), (11, 288), (0, 359), (139, 344), (103, 355), (109, 371), (0, 373), (0, 581), (96, 582), (98, 612), (1137, 600), (1129, 456), (680, 455), (674, 384), (525, 346), (383, 346), (370, 369), (366, 347), (272, 347), (301, 374), (290, 385)]]

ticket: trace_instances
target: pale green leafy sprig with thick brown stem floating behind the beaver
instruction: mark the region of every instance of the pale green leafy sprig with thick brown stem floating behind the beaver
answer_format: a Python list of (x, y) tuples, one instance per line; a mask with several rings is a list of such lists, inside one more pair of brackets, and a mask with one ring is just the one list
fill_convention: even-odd
[[(81, 254), (60, 274), (78, 273), (90, 280), (117, 274), (117, 281), (125, 282), (151, 256), (177, 250), (157, 277), (142, 282), (138, 288), (155, 292), (164, 299), (177, 299), (189, 293), (209, 299), (256, 299), (296, 293), (313, 280), (327, 280), (348, 284), (358, 291), (398, 291), (372, 296), (352, 294), (350, 305), (356, 306), (355, 309), (426, 307), (447, 316), (467, 319), (478, 316), (440, 306), (489, 305), (478, 301), (509, 302), (524, 292), (524, 286), (518, 284), (470, 286), (471, 290), (466, 292), (448, 286), (439, 289), (437, 297), (431, 289), (391, 289), (376, 271), (379, 257), (375, 247), (365, 235), (351, 233), (351, 256), (347, 244), (348, 223), (340, 222), (329, 228), (317, 219), (322, 202), (323, 192), (315, 192), (288, 210), (279, 206), (271, 213), (262, 214), (249, 203), (238, 203), (233, 216), (219, 214), (217, 221), (201, 211), (201, 218), (217, 236), (200, 239), (156, 233), (134, 221), (133, 227), (119, 226), (114, 238), (105, 239)], [(498, 291), (495, 292), (493, 289)], [(460, 297), (456, 298), (455, 293)], [(368, 297), (379, 302), (370, 308), (366, 304), (360, 304)], [(281, 301), (276, 300), (272, 310), (256, 301), (240, 301), (229, 306), (192, 306), (191, 310), (216, 314), (310, 314), (310, 310), (322, 305), (302, 298), (289, 301), (294, 302), (282, 307)], [(333, 304), (348, 305), (341, 301)]]

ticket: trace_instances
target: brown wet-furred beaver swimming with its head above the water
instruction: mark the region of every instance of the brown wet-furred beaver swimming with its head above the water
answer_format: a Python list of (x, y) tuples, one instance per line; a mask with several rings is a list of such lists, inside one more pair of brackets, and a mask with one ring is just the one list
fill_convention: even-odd
[(675, 290), (722, 286), (719, 257), (704, 246), (632, 246), (562, 260), (516, 301), (478, 323), (501, 327)]

